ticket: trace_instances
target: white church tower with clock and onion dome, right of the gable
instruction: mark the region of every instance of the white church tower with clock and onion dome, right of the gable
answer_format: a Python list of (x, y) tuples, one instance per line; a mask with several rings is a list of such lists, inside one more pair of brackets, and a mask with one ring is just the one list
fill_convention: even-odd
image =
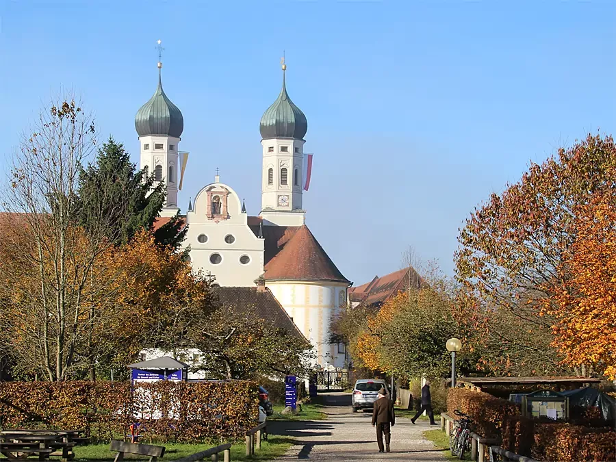
[(282, 90), (261, 117), (259, 127), (263, 146), (261, 217), (264, 226), (301, 226), (305, 217), (302, 179), (308, 122), (287, 94), (284, 62), (282, 69)]

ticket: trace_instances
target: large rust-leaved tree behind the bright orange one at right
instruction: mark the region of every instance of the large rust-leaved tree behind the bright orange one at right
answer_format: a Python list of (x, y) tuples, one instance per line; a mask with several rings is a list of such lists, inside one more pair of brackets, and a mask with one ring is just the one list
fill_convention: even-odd
[[(586, 359), (563, 362), (569, 353), (556, 348), (565, 332), (572, 333), (566, 330), (573, 319), (569, 310), (586, 306), (572, 303), (571, 294), (563, 299), (563, 290), (572, 289), (570, 278), (578, 287), (576, 277), (582, 277), (572, 275), (569, 268), (582, 264), (572, 259), (572, 249), (584, 245), (576, 239), (584, 236), (587, 223), (580, 219), (579, 207), (598, 195), (613, 207), (615, 181), (613, 138), (589, 135), (569, 149), (559, 149), (543, 164), (531, 164), (520, 181), (502, 194), (492, 194), (466, 220), (455, 256), (461, 285), (456, 313), (474, 332), (470, 342), (482, 352), (484, 370), (530, 375), (582, 372)], [(585, 244), (589, 239), (587, 234)], [(587, 260), (590, 256), (587, 252)], [(590, 287), (593, 276), (587, 278), (584, 285)], [(599, 274), (596, 278), (600, 283)], [(592, 304), (600, 311), (597, 300)], [(566, 319), (569, 322), (563, 324)], [(569, 346), (579, 341), (575, 335), (566, 340)]]

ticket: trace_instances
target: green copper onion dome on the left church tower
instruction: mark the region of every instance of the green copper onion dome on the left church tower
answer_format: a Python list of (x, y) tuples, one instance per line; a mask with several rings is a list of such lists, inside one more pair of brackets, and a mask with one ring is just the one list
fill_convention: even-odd
[(142, 105), (135, 116), (135, 129), (139, 136), (163, 135), (174, 138), (179, 138), (184, 130), (182, 113), (163, 91), (160, 73), (154, 96)]

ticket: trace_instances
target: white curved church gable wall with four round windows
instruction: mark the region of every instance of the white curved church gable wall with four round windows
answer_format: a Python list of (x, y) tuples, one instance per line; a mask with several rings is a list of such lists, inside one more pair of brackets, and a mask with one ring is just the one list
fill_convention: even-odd
[[(229, 191), (228, 219), (215, 220), (207, 217), (207, 191)], [(190, 245), (190, 259), (194, 270), (211, 272), (216, 283), (221, 286), (254, 287), (255, 279), (263, 274), (264, 240), (257, 238), (248, 227), (248, 215), (242, 213), (242, 204), (238, 194), (228, 185), (211, 183), (203, 188), (194, 200), (194, 211), (187, 213), (188, 233), (182, 243)], [(207, 242), (199, 242), (199, 235), (207, 236)], [(233, 235), (235, 241), (227, 244), (224, 238)], [(212, 264), (211, 255), (218, 253), (222, 257), (219, 264)], [(240, 263), (240, 258), (247, 255), (248, 264)]]

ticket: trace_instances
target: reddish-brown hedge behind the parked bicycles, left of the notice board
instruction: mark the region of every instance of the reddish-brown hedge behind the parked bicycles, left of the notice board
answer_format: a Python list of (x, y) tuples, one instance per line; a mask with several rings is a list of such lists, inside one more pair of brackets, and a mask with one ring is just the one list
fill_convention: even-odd
[(519, 415), (515, 404), (495, 398), (487, 393), (472, 392), (464, 388), (450, 388), (447, 395), (447, 413), (457, 418), (458, 410), (470, 415), (476, 432), (485, 437), (498, 437), (506, 415)]

